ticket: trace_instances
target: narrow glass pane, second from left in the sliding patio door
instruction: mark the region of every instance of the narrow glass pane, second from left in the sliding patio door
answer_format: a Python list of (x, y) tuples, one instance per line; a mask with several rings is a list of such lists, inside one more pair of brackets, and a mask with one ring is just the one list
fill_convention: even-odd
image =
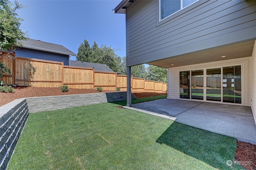
[(204, 70), (191, 72), (191, 99), (204, 100)]

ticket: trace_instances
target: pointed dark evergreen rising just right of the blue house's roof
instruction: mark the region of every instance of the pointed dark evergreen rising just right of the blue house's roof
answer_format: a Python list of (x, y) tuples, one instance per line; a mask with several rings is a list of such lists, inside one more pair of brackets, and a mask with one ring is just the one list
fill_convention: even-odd
[(84, 39), (84, 43), (80, 44), (78, 47), (78, 52), (76, 55), (76, 60), (84, 62), (93, 62), (92, 49), (89, 42)]

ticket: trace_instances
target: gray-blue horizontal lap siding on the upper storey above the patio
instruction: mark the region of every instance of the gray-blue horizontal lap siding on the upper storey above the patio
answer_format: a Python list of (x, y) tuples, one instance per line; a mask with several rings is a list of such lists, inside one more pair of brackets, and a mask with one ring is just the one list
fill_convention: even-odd
[(127, 66), (256, 39), (256, 1), (200, 0), (161, 22), (158, 3), (127, 9)]

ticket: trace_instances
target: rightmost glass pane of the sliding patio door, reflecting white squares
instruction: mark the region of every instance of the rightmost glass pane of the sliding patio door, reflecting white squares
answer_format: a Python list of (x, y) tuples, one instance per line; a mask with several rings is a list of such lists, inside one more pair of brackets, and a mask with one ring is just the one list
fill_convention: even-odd
[(241, 103), (241, 66), (223, 67), (223, 102)]

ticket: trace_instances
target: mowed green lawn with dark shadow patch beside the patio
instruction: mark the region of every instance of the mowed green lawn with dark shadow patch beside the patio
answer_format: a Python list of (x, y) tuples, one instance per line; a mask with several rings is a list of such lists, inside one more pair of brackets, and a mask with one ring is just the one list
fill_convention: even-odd
[(235, 138), (117, 106), (30, 114), (8, 170), (243, 169)]

